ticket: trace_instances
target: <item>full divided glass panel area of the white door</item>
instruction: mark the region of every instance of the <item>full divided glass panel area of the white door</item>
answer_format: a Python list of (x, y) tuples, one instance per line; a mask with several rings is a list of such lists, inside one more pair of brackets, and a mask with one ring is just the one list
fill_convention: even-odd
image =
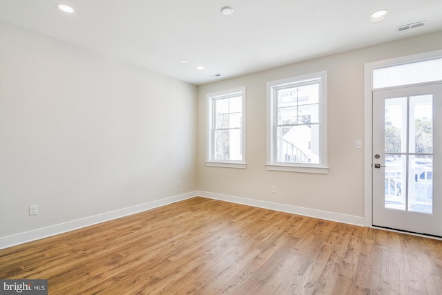
[(385, 208), (433, 213), (432, 95), (385, 99)]

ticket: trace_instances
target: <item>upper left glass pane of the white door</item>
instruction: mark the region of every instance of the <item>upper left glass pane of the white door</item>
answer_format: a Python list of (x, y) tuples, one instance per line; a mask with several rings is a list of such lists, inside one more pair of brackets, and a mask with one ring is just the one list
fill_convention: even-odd
[(405, 153), (407, 97), (385, 99), (385, 153)]

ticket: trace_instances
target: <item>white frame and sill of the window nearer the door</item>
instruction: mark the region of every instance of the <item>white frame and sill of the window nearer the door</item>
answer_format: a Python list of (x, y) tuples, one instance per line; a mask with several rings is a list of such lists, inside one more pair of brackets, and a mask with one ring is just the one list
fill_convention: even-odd
[[(276, 89), (290, 84), (304, 84), (320, 79), (319, 93), (319, 163), (286, 163), (276, 160)], [(327, 71), (267, 82), (267, 170), (303, 173), (328, 173), (327, 166)]]

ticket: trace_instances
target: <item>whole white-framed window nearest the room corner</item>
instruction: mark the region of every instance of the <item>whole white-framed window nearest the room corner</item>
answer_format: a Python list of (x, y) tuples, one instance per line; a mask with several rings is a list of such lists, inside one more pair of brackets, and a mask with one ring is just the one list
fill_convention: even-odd
[(245, 87), (209, 93), (206, 166), (246, 168)]

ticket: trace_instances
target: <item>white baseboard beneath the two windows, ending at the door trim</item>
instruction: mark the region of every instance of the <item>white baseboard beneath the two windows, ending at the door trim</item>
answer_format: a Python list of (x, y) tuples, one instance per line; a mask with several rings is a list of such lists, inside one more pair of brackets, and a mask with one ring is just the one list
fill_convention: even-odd
[(309, 216), (319, 219), (331, 220), (336, 222), (347, 223), (349, 225), (358, 225), (363, 227), (365, 218), (359, 216), (346, 215), (341, 213), (322, 211), (316, 209), (309, 209), (303, 207), (296, 207), (287, 204), (278, 204), (273, 202), (266, 202), (260, 200), (253, 200), (248, 198), (240, 198), (235, 196), (227, 196), (220, 193), (210, 193), (208, 191), (196, 191), (198, 196), (204, 198), (210, 198), (215, 200), (222, 200), (227, 202), (233, 202), (237, 204), (244, 204), (253, 207), (260, 207), (264, 209), (271, 209), (275, 211), (282, 211), (287, 213), (298, 214), (302, 216)]

